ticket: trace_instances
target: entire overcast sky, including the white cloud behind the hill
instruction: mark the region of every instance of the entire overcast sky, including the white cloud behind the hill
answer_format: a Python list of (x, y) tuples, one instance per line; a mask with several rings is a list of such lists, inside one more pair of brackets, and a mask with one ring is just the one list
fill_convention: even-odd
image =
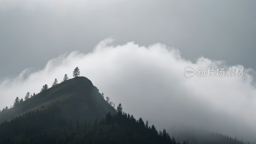
[[(158, 130), (184, 124), (254, 140), (255, 3), (2, 0), (0, 106), (78, 66)], [(188, 79), (186, 66), (245, 71)]]

